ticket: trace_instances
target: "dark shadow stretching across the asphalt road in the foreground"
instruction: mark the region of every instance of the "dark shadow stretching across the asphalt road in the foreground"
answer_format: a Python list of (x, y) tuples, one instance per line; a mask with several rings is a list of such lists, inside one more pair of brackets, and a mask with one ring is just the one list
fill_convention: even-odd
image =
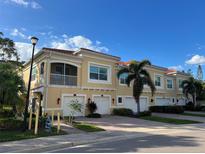
[[(74, 147), (58, 152), (83, 152), (83, 153), (113, 153), (113, 152), (141, 152), (145, 149), (146, 152), (152, 152), (150, 148), (159, 149), (160, 152), (162, 148), (170, 148), (167, 152), (175, 152), (175, 147), (180, 147), (181, 150), (190, 147), (197, 147), (198, 144), (195, 141), (195, 137), (187, 136), (167, 136), (167, 135), (153, 135), (134, 139), (127, 139), (121, 141), (107, 142), (84, 145), (81, 147)], [(150, 151), (149, 151), (150, 149)], [(142, 151), (143, 152), (143, 151)], [(189, 150), (187, 149), (187, 152)]]

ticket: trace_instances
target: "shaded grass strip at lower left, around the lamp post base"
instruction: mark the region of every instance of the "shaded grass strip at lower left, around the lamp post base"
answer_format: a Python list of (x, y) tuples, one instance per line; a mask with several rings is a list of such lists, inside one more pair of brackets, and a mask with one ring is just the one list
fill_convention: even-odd
[(22, 132), (20, 130), (0, 130), (0, 142), (6, 142), (6, 141), (16, 141), (16, 140), (23, 140), (23, 139), (32, 139), (32, 138), (38, 138), (38, 137), (46, 137), (46, 136), (54, 136), (54, 135), (65, 135), (67, 134), (64, 131), (60, 131), (59, 134), (57, 134), (57, 129), (52, 128), (52, 132), (46, 132), (43, 129), (40, 129), (38, 131), (37, 135), (34, 135), (34, 130), (32, 131), (26, 131)]

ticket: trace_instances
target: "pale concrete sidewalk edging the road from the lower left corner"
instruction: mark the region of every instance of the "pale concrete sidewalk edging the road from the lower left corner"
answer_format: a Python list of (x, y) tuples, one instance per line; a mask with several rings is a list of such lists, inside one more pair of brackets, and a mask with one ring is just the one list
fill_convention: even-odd
[[(124, 134), (122, 132), (104, 131), (96, 133), (80, 133), (4, 142), (0, 143), (0, 153), (43, 152), (45, 150), (54, 150), (56, 147), (63, 148), (80, 144), (95, 143), (97, 141), (121, 139), (132, 135), (133, 134)], [(141, 135), (142, 133), (140, 133), (140, 136)]]

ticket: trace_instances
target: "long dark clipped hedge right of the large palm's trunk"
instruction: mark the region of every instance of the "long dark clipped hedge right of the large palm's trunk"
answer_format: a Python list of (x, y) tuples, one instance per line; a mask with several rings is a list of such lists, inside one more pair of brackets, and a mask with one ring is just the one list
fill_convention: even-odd
[(182, 106), (151, 106), (150, 111), (160, 113), (183, 113), (184, 108)]

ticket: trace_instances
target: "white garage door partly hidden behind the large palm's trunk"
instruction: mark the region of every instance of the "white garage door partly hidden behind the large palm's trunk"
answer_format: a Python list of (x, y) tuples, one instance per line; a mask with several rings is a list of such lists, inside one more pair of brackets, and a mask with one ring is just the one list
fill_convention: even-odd
[[(125, 108), (131, 109), (133, 112), (137, 112), (137, 103), (133, 97), (125, 97), (124, 99)], [(148, 110), (148, 100), (146, 97), (140, 98), (140, 111)]]

